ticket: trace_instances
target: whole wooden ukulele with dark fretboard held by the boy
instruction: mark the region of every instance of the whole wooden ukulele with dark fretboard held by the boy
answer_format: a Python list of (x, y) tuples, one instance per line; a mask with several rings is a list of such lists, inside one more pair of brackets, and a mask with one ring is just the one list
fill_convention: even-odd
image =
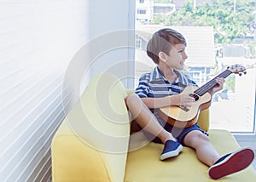
[[(242, 65), (231, 65), (225, 71), (221, 72), (217, 77), (228, 77), (231, 73), (246, 74), (245, 67)], [(183, 94), (189, 94), (195, 98), (192, 106), (171, 105), (159, 109), (159, 116), (166, 122), (177, 128), (189, 128), (193, 126), (198, 119), (200, 111), (207, 109), (211, 105), (212, 95), (208, 93), (210, 89), (216, 86), (216, 78), (202, 85), (200, 88), (188, 86), (184, 88)]]

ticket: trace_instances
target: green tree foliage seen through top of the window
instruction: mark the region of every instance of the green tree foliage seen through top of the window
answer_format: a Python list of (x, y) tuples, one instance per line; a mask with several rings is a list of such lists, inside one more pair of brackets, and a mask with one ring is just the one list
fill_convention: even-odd
[(188, 1), (173, 14), (156, 15), (154, 24), (213, 26), (215, 43), (232, 43), (235, 38), (253, 35), (255, 3), (255, 0), (212, 0), (194, 9), (193, 2)]

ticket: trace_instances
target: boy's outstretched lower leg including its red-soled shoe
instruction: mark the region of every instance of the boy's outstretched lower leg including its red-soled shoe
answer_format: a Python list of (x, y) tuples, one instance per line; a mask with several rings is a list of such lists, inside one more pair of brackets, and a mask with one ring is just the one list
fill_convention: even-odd
[(198, 130), (187, 134), (184, 138), (184, 144), (194, 148), (199, 160), (210, 167), (208, 173), (212, 179), (221, 179), (232, 173), (239, 172), (247, 168), (254, 158), (253, 150), (250, 148), (219, 156), (207, 135)]

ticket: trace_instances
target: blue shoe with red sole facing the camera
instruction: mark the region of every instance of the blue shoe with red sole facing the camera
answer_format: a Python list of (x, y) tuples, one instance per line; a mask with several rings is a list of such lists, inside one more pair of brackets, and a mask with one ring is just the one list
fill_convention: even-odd
[(212, 179), (220, 179), (231, 173), (236, 173), (247, 168), (253, 162), (254, 153), (251, 149), (241, 149), (222, 156), (209, 168)]

